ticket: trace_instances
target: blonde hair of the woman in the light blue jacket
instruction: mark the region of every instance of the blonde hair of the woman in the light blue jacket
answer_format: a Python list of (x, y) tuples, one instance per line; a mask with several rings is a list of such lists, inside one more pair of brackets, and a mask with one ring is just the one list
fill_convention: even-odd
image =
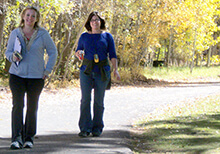
[(34, 7), (34, 6), (27, 6), (26, 8), (23, 9), (23, 11), (21, 12), (21, 21), (20, 21), (20, 24), (19, 24), (19, 27), (24, 27), (24, 15), (25, 15), (25, 12), (28, 10), (28, 9), (32, 9), (34, 10), (36, 13), (37, 13), (37, 21), (36, 23), (34, 24), (34, 28), (37, 28), (40, 26), (40, 12), (39, 10), (37, 9), (37, 7)]

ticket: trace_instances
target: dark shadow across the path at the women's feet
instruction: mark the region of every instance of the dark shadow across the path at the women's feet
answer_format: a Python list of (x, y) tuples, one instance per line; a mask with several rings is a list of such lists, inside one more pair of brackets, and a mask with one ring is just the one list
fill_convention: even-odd
[(107, 130), (100, 137), (73, 134), (40, 135), (33, 149), (10, 150), (10, 139), (0, 138), (0, 153), (132, 153), (128, 148), (129, 131)]

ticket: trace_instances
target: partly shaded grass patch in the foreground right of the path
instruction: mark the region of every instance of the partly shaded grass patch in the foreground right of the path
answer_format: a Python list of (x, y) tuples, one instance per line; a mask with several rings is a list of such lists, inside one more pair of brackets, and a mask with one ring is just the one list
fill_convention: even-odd
[(220, 153), (220, 95), (158, 110), (134, 125), (134, 153)]

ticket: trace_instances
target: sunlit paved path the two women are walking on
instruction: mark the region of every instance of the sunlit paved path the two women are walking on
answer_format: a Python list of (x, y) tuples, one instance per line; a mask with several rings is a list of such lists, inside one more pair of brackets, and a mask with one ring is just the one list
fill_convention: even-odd
[(105, 94), (103, 134), (78, 137), (80, 89), (44, 89), (38, 111), (34, 148), (12, 151), (10, 92), (0, 92), (0, 153), (132, 153), (129, 130), (134, 122), (165, 106), (220, 94), (220, 83), (164, 87), (113, 87)]

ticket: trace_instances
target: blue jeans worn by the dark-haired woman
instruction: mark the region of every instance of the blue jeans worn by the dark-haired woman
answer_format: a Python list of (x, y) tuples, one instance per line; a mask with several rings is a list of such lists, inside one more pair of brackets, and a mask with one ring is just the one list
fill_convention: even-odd
[[(107, 72), (108, 80), (102, 81), (100, 73), (92, 72), (86, 75), (80, 71), (80, 86), (81, 86), (81, 105), (80, 105), (80, 131), (102, 133), (103, 113), (104, 113), (104, 96), (105, 89), (110, 79), (110, 71)], [(93, 118), (91, 116), (91, 93), (94, 88), (94, 106)]]

